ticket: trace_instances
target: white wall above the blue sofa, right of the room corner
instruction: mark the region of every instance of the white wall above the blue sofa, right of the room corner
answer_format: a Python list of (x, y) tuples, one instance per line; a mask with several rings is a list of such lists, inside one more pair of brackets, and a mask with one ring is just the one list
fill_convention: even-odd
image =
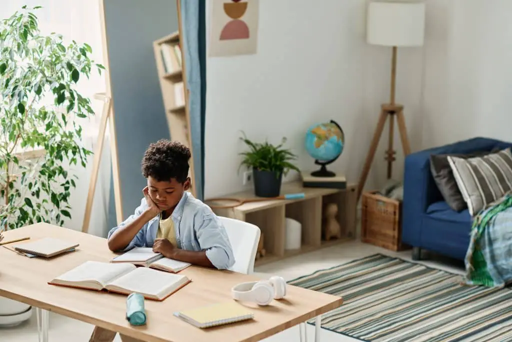
[(422, 145), (512, 140), (512, 2), (429, 0)]

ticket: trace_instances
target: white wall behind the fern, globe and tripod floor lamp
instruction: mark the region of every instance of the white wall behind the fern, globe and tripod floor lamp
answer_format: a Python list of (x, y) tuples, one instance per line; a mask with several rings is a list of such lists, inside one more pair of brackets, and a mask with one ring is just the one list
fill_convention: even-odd
[[(286, 136), (298, 165), (312, 170), (303, 147), (306, 129), (331, 118), (344, 128), (346, 147), (330, 168), (357, 181), (380, 104), (389, 101), (391, 70), (391, 49), (367, 45), (365, 25), (365, 0), (260, 1), (258, 53), (207, 59), (206, 198), (244, 188), (237, 173), (241, 130), (272, 143)], [(413, 148), (421, 144), (422, 54), (420, 48), (400, 50), (398, 59), (397, 100), (406, 105)], [(386, 129), (367, 188), (386, 178), (387, 139)], [(397, 177), (403, 169), (399, 142), (396, 135)]]

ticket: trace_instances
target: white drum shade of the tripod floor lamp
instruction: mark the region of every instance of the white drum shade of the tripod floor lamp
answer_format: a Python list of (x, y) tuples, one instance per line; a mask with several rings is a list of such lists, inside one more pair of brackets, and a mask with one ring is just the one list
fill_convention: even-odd
[(425, 4), (371, 2), (367, 15), (367, 42), (383, 46), (422, 46)]

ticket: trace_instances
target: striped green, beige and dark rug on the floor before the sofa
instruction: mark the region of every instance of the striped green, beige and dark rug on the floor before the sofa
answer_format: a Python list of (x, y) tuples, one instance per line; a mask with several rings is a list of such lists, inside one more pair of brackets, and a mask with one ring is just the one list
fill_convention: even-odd
[[(364, 341), (512, 341), (512, 291), (381, 254), (292, 280), (342, 296), (322, 327)], [(310, 321), (314, 324), (314, 321)]]

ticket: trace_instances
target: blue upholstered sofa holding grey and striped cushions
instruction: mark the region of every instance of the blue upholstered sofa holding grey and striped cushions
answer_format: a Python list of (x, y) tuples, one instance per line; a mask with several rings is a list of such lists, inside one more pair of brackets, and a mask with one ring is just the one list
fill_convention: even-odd
[(472, 218), (467, 209), (456, 212), (444, 201), (432, 177), (431, 154), (472, 153), (512, 147), (490, 138), (473, 138), (432, 148), (406, 157), (402, 203), (402, 242), (413, 247), (464, 260), (470, 243)]

